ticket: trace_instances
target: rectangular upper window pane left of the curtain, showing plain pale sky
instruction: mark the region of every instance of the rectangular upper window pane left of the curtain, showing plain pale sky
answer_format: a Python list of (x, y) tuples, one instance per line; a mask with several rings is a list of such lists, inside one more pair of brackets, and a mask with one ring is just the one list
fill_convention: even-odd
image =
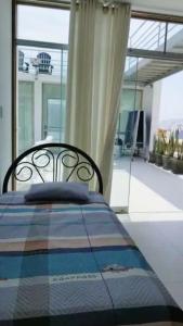
[(17, 5), (17, 38), (68, 43), (69, 11)]

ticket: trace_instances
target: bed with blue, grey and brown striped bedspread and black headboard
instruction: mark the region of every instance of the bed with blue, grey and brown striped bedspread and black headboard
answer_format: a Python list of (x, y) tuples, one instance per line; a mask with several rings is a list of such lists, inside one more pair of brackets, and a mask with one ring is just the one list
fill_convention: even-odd
[[(25, 186), (8, 191), (14, 178), (32, 179), (48, 196), (48, 175), (54, 185), (78, 178), (99, 191), (87, 190), (83, 201), (27, 201)], [(93, 160), (68, 145), (37, 146), (12, 163), (0, 197), (0, 326), (183, 325), (182, 310), (102, 192)]]

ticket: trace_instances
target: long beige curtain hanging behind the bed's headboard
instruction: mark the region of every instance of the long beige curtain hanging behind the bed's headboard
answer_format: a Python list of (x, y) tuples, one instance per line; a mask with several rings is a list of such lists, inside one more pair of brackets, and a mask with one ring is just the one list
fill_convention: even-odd
[(130, 5), (117, 1), (71, 1), (66, 141), (99, 165), (104, 195), (112, 184)]

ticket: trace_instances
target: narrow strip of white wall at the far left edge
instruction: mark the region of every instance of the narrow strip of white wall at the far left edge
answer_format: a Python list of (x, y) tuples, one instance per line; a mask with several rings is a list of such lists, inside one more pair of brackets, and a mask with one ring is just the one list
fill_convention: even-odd
[(12, 1), (0, 0), (0, 189), (11, 162)]

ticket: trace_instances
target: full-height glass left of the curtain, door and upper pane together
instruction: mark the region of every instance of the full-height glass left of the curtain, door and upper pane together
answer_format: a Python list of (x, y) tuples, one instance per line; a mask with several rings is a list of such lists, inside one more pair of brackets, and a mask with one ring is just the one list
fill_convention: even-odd
[(64, 141), (68, 30), (69, 11), (17, 4), (16, 155)]

